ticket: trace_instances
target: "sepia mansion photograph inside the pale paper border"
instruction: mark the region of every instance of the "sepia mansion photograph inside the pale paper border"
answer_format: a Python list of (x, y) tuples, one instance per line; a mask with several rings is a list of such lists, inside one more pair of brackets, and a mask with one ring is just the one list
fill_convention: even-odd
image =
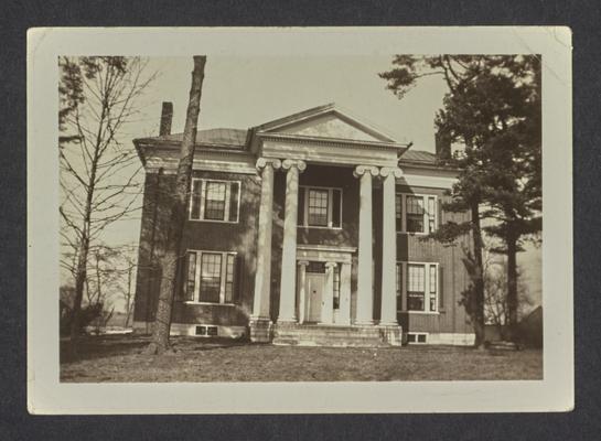
[(206, 47), (47, 56), (57, 387), (549, 379), (547, 54)]

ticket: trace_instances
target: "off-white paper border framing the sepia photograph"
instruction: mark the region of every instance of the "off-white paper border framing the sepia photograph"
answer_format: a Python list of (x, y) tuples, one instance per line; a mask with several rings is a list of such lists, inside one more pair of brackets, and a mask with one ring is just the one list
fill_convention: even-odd
[[(60, 383), (57, 57), (540, 54), (544, 379)], [(55, 28), (28, 32), (28, 408), (62, 413), (519, 412), (573, 409), (571, 31), (473, 28)], [(552, 325), (551, 325), (552, 324)], [(116, 399), (118, 397), (118, 399)]]

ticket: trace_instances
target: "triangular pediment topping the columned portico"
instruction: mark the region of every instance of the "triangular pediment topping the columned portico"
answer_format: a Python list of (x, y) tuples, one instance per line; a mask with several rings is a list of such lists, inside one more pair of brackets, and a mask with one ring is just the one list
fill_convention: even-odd
[(333, 105), (318, 107), (268, 122), (260, 127), (260, 131), (312, 138), (395, 142), (387, 135), (334, 108)]

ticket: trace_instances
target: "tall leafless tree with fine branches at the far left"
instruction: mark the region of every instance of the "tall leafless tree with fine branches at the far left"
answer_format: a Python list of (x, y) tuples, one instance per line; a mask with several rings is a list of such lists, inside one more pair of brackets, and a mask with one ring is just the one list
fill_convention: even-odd
[(121, 138), (155, 74), (148, 74), (139, 57), (62, 56), (58, 65), (62, 267), (75, 279), (75, 353), (90, 247), (107, 226), (138, 208), (140, 165)]

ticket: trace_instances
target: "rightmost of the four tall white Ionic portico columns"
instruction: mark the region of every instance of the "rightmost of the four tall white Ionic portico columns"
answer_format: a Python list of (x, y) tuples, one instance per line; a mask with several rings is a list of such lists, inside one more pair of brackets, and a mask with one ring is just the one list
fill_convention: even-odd
[(382, 213), (382, 312), (380, 325), (396, 326), (397, 321), (397, 232), (396, 232), (396, 179), (401, 176), (399, 169), (382, 168), (383, 213)]

